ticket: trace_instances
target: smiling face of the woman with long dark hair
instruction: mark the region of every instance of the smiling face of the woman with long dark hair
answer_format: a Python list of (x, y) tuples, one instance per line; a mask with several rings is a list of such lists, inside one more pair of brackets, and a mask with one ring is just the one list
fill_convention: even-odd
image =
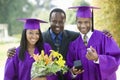
[(27, 44), (35, 46), (35, 44), (39, 40), (39, 35), (40, 34), (39, 34), (39, 30), (38, 29), (35, 29), (35, 30), (29, 30), (28, 29), (26, 31)]

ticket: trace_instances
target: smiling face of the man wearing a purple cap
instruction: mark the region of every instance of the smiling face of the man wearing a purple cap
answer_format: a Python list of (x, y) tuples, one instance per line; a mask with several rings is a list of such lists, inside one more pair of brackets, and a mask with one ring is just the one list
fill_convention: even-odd
[(88, 33), (92, 27), (91, 18), (77, 18), (77, 27), (81, 33)]

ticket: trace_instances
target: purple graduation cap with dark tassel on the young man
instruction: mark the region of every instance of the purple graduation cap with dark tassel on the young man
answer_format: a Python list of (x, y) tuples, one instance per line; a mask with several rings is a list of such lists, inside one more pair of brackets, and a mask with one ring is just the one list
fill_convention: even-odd
[(78, 18), (92, 18), (92, 31), (94, 30), (93, 9), (99, 9), (98, 7), (94, 7), (90, 5), (85, 5), (85, 6), (82, 5), (82, 6), (69, 7), (69, 9), (77, 9), (76, 17)]

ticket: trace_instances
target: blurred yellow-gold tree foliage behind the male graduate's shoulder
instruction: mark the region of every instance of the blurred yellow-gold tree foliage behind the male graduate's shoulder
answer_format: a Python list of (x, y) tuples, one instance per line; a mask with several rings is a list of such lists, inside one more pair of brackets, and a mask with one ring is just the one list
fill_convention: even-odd
[(95, 24), (98, 29), (109, 30), (120, 45), (120, 0), (93, 0), (100, 7), (95, 12)]

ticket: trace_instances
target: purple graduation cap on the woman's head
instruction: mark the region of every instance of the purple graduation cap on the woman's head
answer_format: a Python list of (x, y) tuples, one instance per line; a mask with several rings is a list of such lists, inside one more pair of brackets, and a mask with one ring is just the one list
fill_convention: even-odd
[(40, 29), (40, 23), (47, 23), (46, 21), (34, 19), (34, 18), (22, 18), (17, 20), (25, 23), (24, 29), (31, 29), (31, 30)]

